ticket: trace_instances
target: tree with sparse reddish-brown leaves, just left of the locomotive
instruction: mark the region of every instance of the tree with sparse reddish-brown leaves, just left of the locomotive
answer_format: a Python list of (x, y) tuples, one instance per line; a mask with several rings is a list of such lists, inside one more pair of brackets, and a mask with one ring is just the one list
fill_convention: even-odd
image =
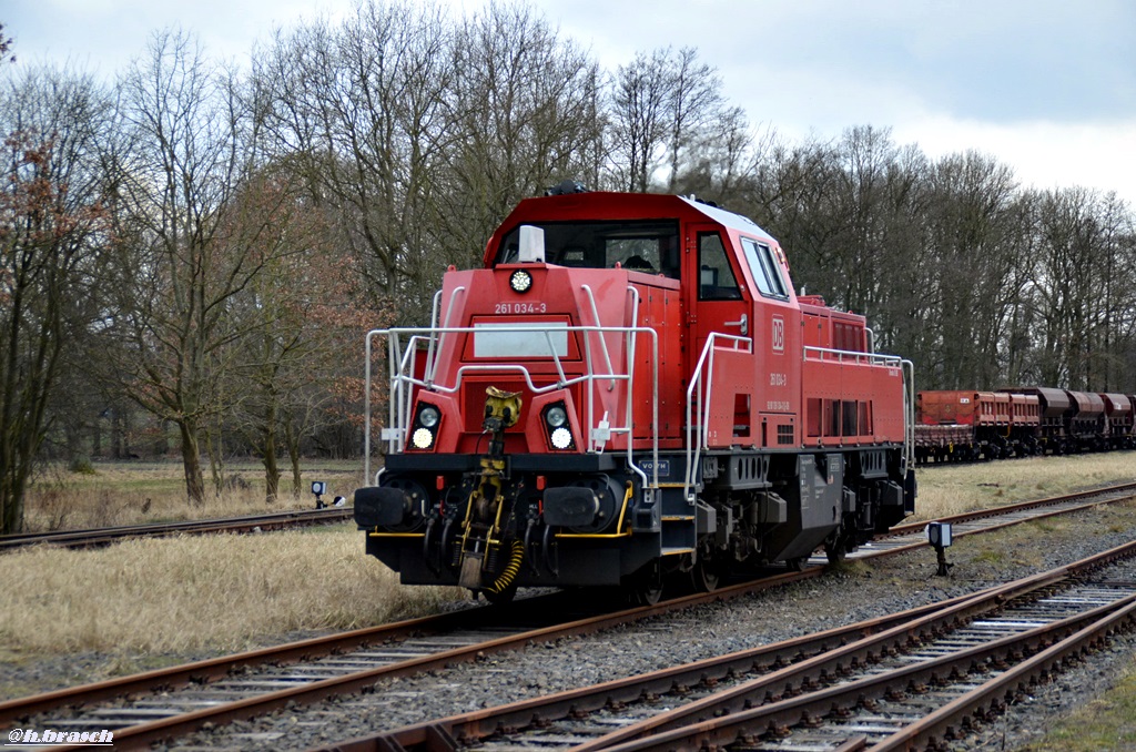
[[(300, 487), (300, 441), (317, 424), (340, 377), (342, 353), (377, 315), (360, 301), (362, 276), (332, 243), (326, 218), (278, 165), (266, 168), (226, 210), (227, 235), (264, 268), (234, 296), (235, 366), (228, 391), (240, 394), (231, 420), (265, 466), (266, 501), (279, 492), (278, 457), (292, 460)], [(281, 194), (285, 198), (281, 198)]]

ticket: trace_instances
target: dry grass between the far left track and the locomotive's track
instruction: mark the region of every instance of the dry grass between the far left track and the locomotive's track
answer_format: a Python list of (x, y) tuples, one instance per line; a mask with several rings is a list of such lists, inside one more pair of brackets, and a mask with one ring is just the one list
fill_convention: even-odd
[(0, 644), (15, 652), (241, 650), (298, 629), (349, 629), (436, 610), (463, 591), (402, 587), (362, 534), (137, 540), (3, 557)]

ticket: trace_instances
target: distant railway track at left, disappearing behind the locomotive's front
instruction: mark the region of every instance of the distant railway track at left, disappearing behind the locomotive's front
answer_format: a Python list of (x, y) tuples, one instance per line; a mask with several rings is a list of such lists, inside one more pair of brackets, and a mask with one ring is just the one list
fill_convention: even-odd
[(351, 519), (351, 507), (327, 509), (293, 509), (290, 511), (227, 517), (222, 519), (186, 520), (182, 523), (152, 523), (120, 527), (97, 527), (82, 530), (22, 533), (0, 536), (0, 552), (28, 545), (59, 545), (68, 549), (91, 549), (126, 538), (166, 537), (170, 535), (204, 535), (210, 533), (254, 533), (306, 525), (327, 525)]

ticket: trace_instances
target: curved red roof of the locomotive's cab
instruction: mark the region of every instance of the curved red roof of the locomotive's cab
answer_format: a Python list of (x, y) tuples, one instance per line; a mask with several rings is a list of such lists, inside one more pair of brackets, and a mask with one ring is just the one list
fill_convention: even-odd
[(772, 235), (740, 214), (684, 195), (663, 193), (584, 192), (525, 199), (509, 214), (485, 247), (485, 265), (492, 265), (501, 237), (523, 224), (604, 219), (678, 219), (713, 222), (728, 229), (778, 245)]

